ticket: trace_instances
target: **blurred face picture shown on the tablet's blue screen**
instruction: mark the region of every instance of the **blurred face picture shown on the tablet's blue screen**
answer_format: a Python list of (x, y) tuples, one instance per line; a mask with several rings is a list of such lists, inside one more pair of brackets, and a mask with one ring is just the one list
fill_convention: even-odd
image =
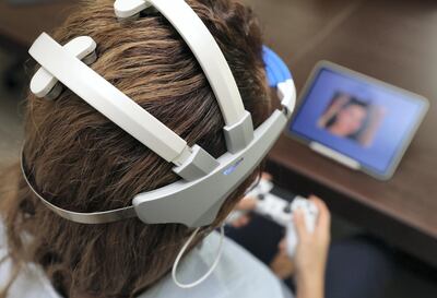
[(382, 116), (383, 109), (374, 105), (371, 99), (339, 91), (332, 96), (317, 124), (335, 136), (370, 146)]

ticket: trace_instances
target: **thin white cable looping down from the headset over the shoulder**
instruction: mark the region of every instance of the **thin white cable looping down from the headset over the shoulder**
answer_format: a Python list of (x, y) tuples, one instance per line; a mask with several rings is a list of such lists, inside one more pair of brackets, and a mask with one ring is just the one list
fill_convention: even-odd
[(184, 253), (186, 252), (187, 248), (191, 243), (191, 241), (194, 239), (196, 235), (199, 233), (200, 228), (197, 228), (188, 239), (188, 241), (184, 245), (182, 249), (179, 251), (179, 254), (176, 257), (176, 261), (173, 264), (173, 270), (172, 270), (172, 278), (175, 284), (180, 287), (180, 288), (192, 288), (198, 286), (199, 284), (203, 283), (210, 275), (211, 273), (215, 270), (215, 267), (218, 265), (220, 258), (222, 257), (222, 251), (223, 251), (223, 239), (225, 238), (225, 228), (224, 225), (220, 228), (220, 243), (218, 243), (218, 249), (217, 249), (217, 257), (214, 260), (214, 263), (211, 265), (210, 270), (198, 281), (190, 283), (190, 284), (182, 284), (180, 283), (177, 277), (176, 277), (176, 271), (179, 265), (180, 259), (182, 258)]

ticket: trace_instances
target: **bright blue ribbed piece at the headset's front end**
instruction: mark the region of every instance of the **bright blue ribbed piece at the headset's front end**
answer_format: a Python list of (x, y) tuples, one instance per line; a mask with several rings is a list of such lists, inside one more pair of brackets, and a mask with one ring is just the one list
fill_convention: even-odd
[(267, 79), (269, 86), (275, 87), (279, 83), (293, 79), (291, 71), (285, 62), (267, 46), (262, 47), (262, 59), (265, 64)]

